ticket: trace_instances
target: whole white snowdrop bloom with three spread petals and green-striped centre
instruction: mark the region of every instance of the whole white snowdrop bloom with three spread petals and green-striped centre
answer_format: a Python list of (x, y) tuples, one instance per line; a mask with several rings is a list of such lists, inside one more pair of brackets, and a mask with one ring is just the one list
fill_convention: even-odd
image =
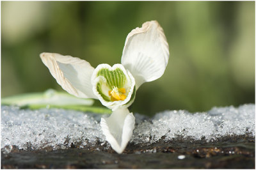
[(109, 118), (101, 118), (100, 126), (106, 140), (122, 153), (132, 137), (135, 118), (127, 109), (143, 82), (158, 79), (169, 59), (169, 47), (157, 21), (145, 22), (128, 34), (122, 64), (93, 68), (83, 59), (56, 53), (40, 54), (52, 76), (71, 95), (95, 98), (112, 109)]

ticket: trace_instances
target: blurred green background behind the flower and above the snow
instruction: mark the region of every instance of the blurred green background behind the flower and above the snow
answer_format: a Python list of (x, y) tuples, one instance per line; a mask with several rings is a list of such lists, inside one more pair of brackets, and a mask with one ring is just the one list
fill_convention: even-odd
[(62, 90), (41, 52), (93, 67), (120, 63), (127, 34), (148, 20), (163, 27), (170, 59), (163, 77), (138, 89), (131, 111), (195, 112), (255, 102), (253, 1), (2, 1), (1, 97)]

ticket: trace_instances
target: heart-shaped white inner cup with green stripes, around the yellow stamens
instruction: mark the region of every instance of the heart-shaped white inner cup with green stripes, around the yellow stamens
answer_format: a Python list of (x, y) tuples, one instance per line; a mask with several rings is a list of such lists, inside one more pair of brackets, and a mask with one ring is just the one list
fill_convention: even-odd
[[(134, 101), (135, 80), (131, 73), (125, 70), (123, 65), (116, 64), (112, 67), (108, 64), (98, 65), (92, 75), (93, 93), (99, 98), (102, 105), (115, 111), (120, 107), (129, 107)], [(125, 89), (123, 100), (113, 100), (110, 91), (113, 89)]]

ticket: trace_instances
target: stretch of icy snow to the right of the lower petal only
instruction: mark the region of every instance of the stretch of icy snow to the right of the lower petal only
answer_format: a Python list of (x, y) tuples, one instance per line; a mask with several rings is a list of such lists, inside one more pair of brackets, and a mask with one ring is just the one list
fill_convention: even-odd
[(164, 111), (138, 124), (132, 142), (154, 143), (159, 139), (183, 139), (211, 142), (230, 135), (255, 137), (255, 105), (236, 108), (213, 107), (208, 112)]

